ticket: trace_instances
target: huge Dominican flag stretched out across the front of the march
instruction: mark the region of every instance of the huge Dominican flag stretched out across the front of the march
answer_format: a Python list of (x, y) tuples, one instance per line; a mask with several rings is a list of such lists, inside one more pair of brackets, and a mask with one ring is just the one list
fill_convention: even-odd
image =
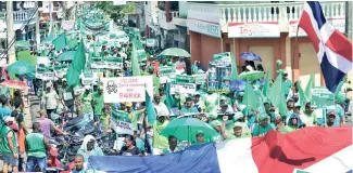
[(165, 156), (90, 157), (89, 165), (110, 173), (346, 173), (353, 169), (352, 128), (270, 131)]

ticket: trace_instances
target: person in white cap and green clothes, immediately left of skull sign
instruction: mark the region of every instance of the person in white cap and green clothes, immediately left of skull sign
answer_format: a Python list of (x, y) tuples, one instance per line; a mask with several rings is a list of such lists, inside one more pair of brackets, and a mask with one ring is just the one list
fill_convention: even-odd
[(90, 85), (85, 85), (85, 92), (80, 96), (80, 103), (83, 104), (83, 109), (80, 110), (81, 114), (88, 116), (90, 120), (93, 120), (93, 96), (90, 92)]

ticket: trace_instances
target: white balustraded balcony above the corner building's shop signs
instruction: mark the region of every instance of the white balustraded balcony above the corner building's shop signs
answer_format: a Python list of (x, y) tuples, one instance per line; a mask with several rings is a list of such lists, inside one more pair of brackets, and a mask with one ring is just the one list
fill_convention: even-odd
[[(303, 2), (263, 3), (252, 2), (247, 4), (210, 4), (187, 2), (190, 12), (200, 16), (216, 16), (223, 32), (227, 32), (229, 23), (278, 23), (281, 32), (288, 32), (291, 24), (299, 21)], [(320, 2), (327, 21), (340, 18), (344, 21), (345, 8), (343, 1)], [(342, 25), (342, 24), (333, 24)], [(344, 24), (343, 24), (344, 25)], [(344, 27), (344, 26), (343, 26)]]

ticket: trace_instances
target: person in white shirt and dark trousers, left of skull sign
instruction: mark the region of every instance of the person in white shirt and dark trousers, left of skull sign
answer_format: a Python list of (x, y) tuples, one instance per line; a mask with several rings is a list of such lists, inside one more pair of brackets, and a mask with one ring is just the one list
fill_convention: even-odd
[(51, 86), (47, 86), (43, 97), (46, 103), (46, 109), (50, 117), (50, 114), (58, 108), (60, 103), (60, 97)]

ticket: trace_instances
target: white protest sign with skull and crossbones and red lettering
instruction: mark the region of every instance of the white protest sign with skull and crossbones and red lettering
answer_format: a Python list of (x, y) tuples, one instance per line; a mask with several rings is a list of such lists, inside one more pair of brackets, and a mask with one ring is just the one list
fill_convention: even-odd
[(152, 76), (103, 78), (104, 102), (144, 102), (146, 90), (153, 95)]

